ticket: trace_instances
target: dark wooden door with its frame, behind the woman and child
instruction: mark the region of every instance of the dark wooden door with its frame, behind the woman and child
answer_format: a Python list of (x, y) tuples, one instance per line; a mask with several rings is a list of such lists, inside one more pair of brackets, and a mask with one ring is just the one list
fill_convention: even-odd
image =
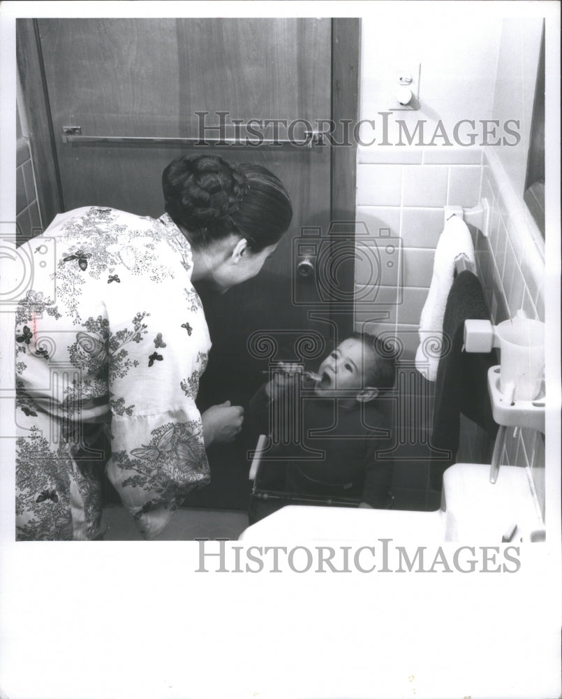
[[(193, 143), (200, 140), (203, 125), (216, 127), (221, 118), (223, 131), (207, 129), (208, 142), (236, 136), (235, 121), (251, 120), (297, 122), (290, 134), (279, 127), (279, 140), (290, 135), (302, 142), (307, 124), (314, 129), (318, 120), (337, 117), (334, 103), (339, 115), (355, 115), (357, 27), (337, 34), (335, 21), (34, 20), (62, 210), (101, 205), (158, 217), (163, 168), (185, 152), (215, 152), (230, 161), (262, 164), (290, 193), (292, 226), (260, 275), (225, 296), (201, 290), (214, 345), (200, 387), (202, 408), (226, 399), (246, 403), (263, 380), (262, 370), (276, 359), (317, 364), (337, 326), (351, 324), (353, 301), (340, 308), (334, 322), (330, 284), (318, 284), (318, 268), (316, 275), (301, 276), (297, 261), (309, 255), (323, 266), (320, 276), (330, 277), (330, 222), (344, 189), (348, 203), (339, 206), (345, 211), (344, 237), (353, 237), (353, 147), (336, 152), (327, 143), (272, 146), (272, 126), (258, 127), (265, 139), (258, 146)], [(347, 21), (346, 27), (357, 24)], [(22, 37), (25, 31), (31, 36), (22, 26)], [(348, 64), (352, 72), (355, 68), (348, 84), (334, 76), (334, 46), (344, 58), (344, 70)], [(22, 63), (24, 50), (20, 54)], [(29, 80), (23, 76), (24, 83)], [(334, 94), (332, 85), (337, 85)], [(345, 99), (347, 109), (341, 109)], [(68, 134), (68, 127), (80, 131)], [(244, 138), (247, 131), (239, 129)], [(342, 177), (334, 162), (350, 171)], [(353, 261), (345, 267), (339, 265), (338, 285), (353, 289)]]

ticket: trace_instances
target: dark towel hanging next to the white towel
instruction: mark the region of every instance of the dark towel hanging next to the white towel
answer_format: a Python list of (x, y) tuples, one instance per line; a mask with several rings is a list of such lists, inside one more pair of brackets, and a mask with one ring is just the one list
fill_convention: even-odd
[(488, 320), (489, 312), (478, 278), (464, 271), (452, 284), (443, 318), (445, 341), (435, 384), (431, 446), (449, 449), (452, 458), (448, 463), (431, 464), (431, 482), (436, 489), (441, 488), (443, 471), (454, 463), (459, 449), (461, 413), (480, 425), (491, 439), (498, 430), (487, 384), (488, 369), (498, 363), (496, 352), (464, 352), (464, 322), (468, 319)]

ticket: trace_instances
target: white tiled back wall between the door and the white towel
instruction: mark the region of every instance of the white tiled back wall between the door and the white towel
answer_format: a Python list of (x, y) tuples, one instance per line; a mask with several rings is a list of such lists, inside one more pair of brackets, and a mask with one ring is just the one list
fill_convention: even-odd
[[(385, 236), (399, 238), (400, 268), (394, 284), (402, 294), (392, 304), (387, 322), (404, 334), (404, 356), (415, 356), (418, 324), (433, 271), (434, 251), (443, 230), (443, 207), (470, 208), (478, 202), (482, 180), (482, 149), (461, 147), (360, 147), (357, 150), (357, 231), (378, 246), (387, 264)], [(368, 231), (365, 233), (364, 231)], [(360, 248), (358, 248), (358, 253)], [(396, 268), (394, 268), (396, 269)], [(399, 272), (399, 273), (398, 273)], [(365, 261), (357, 264), (356, 282), (368, 282)], [(388, 275), (382, 282), (388, 286)], [(377, 298), (377, 308), (385, 294)], [(367, 322), (369, 309), (357, 309), (356, 320)], [(408, 331), (406, 332), (406, 328)]]

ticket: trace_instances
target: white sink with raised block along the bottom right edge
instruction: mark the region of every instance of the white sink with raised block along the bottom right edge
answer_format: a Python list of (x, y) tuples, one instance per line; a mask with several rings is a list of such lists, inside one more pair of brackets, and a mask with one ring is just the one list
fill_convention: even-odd
[(545, 527), (526, 468), (456, 463), (443, 476), (443, 505), (435, 512), (288, 505), (249, 526), (244, 542), (365, 541), (463, 542), (498, 545), (544, 539)]

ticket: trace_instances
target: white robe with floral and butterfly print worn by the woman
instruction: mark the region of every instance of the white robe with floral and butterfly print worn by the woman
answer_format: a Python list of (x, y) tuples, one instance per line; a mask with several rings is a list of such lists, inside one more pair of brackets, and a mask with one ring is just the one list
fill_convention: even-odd
[(167, 214), (88, 207), (22, 247), (16, 538), (102, 538), (103, 468), (150, 538), (209, 482), (195, 397), (211, 343), (188, 242)]

